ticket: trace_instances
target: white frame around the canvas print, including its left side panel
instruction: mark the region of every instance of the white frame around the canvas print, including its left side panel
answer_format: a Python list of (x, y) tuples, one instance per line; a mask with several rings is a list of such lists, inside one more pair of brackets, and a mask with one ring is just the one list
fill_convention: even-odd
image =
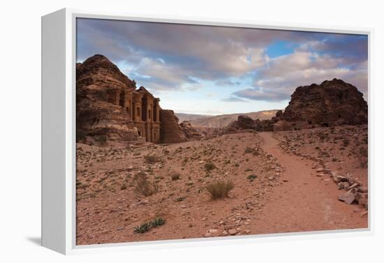
[[(223, 27), (249, 27), (329, 33), (366, 34), (369, 40), (369, 227), (357, 230), (330, 230), (283, 234), (258, 234), (209, 239), (180, 239), (76, 246), (75, 229), (75, 63), (76, 18), (134, 20), (179, 24), (204, 24)], [(42, 246), (63, 254), (105, 253), (110, 251), (185, 248), (269, 241), (328, 239), (374, 234), (374, 184), (371, 144), (374, 136), (372, 120), (374, 94), (372, 80), (373, 29), (318, 27), (308, 24), (270, 24), (249, 20), (206, 19), (202, 17), (168, 17), (91, 12), (64, 8), (42, 17)]]

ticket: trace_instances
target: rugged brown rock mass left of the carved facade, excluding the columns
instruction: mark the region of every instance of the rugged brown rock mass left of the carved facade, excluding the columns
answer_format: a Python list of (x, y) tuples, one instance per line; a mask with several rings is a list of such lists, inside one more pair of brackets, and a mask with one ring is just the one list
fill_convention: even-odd
[[(76, 65), (77, 141), (137, 140), (131, 117), (119, 106), (119, 95), (135, 89), (135, 82), (102, 55)], [(116, 101), (117, 100), (117, 101)]]

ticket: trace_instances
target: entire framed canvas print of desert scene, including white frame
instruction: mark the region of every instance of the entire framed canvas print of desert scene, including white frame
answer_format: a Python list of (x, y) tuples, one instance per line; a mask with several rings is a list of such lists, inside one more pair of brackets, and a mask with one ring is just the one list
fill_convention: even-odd
[(43, 246), (75, 253), (371, 232), (370, 38), (45, 15)]

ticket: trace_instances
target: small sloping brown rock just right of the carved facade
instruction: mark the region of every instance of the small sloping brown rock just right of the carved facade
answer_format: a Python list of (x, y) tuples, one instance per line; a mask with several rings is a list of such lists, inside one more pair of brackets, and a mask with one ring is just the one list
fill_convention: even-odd
[(184, 130), (179, 126), (179, 119), (172, 110), (160, 110), (160, 142), (172, 144), (186, 142)]

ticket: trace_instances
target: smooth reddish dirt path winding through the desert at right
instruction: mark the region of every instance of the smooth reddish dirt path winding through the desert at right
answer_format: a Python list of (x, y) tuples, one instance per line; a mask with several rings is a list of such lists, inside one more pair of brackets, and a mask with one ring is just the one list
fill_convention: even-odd
[(272, 133), (259, 135), (264, 151), (277, 158), (285, 171), (282, 184), (274, 188), (251, 225), (252, 234), (367, 227), (367, 216), (360, 217), (360, 207), (337, 200), (344, 190), (338, 190), (328, 176), (316, 176), (313, 161), (281, 151)]

